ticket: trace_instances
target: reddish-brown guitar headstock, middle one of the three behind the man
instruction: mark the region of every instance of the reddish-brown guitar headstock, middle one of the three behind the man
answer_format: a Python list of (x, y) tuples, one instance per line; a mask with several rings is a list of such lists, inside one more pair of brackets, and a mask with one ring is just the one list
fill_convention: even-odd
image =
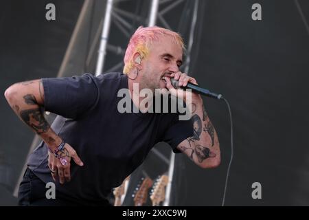
[(152, 179), (149, 177), (141, 178), (141, 184), (137, 185), (135, 192), (133, 194), (134, 197), (134, 206), (143, 206), (146, 203), (148, 198), (148, 190), (152, 186)]

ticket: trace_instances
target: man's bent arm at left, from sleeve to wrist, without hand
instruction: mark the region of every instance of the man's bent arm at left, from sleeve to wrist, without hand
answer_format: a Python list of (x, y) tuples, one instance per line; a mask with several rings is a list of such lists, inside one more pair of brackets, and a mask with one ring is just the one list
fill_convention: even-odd
[(42, 80), (15, 83), (5, 90), (5, 98), (19, 118), (42, 137), (54, 150), (61, 138), (50, 128), (43, 115), (44, 89)]

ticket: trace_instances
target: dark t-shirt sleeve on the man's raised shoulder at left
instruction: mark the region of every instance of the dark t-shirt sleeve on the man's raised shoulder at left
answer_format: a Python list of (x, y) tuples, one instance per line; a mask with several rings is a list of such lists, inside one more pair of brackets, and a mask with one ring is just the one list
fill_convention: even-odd
[(65, 118), (80, 118), (98, 100), (98, 86), (92, 74), (42, 78), (45, 111)]

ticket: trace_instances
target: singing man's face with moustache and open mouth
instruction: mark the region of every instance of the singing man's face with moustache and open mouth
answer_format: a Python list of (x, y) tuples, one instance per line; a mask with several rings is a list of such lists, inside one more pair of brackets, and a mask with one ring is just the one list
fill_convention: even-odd
[(179, 72), (182, 64), (183, 50), (170, 36), (163, 36), (157, 42), (153, 42), (149, 48), (149, 55), (143, 59), (141, 71), (141, 85), (144, 88), (163, 89), (165, 87), (164, 76), (170, 76), (173, 72)]

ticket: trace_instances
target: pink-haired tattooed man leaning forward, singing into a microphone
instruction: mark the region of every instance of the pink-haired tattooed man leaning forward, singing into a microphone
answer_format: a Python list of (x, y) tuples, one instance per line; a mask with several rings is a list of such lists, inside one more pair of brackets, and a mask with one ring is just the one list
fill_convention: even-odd
[[(179, 93), (181, 89), (171, 84), (171, 78), (183, 87), (197, 84), (179, 72), (184, 48), (175, 32), (139, 27), (128, 43), (123, 73), (42, 78), (6, 89), (10, 107), (43, 139), (28, 159), (19, 205), (108, 206), (111, 190), (133, 173), (158, 142), (167, 142), (174, 153), (185, 153), (202, 168), (218, 166), (218, 136), (201, 96)], [(119, 112), (120, 89), (130, 91), (132, 105), (140, 111)], [(141, 89), (154, 95), (155, 89), (167, 89), (185, 102), (192, 117), (179, 120), (179, 112), (141, 111), (145, 109), (139, 103), (149, 99), (135, 96)], [(52, 126), (44, 111), (58, 115)], [(56, 199), (45, 197), (48, 182), (56, 184)]]

